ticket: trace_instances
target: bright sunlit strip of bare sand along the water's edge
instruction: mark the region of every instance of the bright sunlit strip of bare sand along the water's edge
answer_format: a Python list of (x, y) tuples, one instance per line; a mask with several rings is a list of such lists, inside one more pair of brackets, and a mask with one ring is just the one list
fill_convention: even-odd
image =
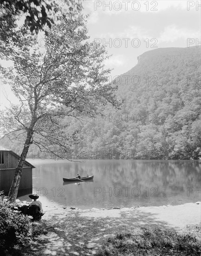
[[(55, 216), (65, 221), (65, 217), (76, 215), (77, 218), (84, 217), (97, 221), (102, 219), (118, 219), (121, 222), (121, 219), (124, 219), (128, 223), (134, 223), (135, 226), (150, 224), (174, 228), (177, 231), (181, 231), (187, 226), (191, 226), (191, 229), (193, 229), (193, 226), (195, 228), (197, 225), (201, 224), (201, 202), (167, 206), (113, 207), (108, 209), (92, 208), (82, 210), (74, 206), (67, 207), (51, 202), (47, 200), (47, 198), (45, 201), (41, 201), (43, 212), (45, 213), (42, 220), (46, 221), (54, 219)], [(21, 203), (28, 204), (30, 202), (23, 201)]]

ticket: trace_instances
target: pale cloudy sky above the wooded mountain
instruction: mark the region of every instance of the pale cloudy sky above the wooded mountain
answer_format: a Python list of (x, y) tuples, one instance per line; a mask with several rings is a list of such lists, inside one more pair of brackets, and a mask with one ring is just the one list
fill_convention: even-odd
[[(62, 0), (58, 1), (62, 7)], [(112, 78), (134, 67), (137, 56), (146, 51), (196, 46), (196, 39), (201, 41), (201, 0), (85, 0), (83, 7), (84, 13), (90, 14), (91, 40), (107, 46), (108, 54), (113, 54), (105, 63), (114, 68)], [(1, 82), (2, 90), (12, 99), (9, 87)], [(1, 93), (1, 108), (4, 105)]]

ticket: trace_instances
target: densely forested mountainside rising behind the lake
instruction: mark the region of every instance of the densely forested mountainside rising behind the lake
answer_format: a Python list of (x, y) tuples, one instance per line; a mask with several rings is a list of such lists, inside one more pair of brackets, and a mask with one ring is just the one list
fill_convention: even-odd
[[(160, 48), (112, 83), (121, 110), (108, 106), (95, 119), (65, 118), (80, 140), (67, 154), (94, 159), (198, 159), (201, 157), (201, 47)], [(87, 104), (87, 102), (86, 102)], [(20, 154), (17, 141), (3, 146)], [(30, 148), (30, 158), (51, 158)]]

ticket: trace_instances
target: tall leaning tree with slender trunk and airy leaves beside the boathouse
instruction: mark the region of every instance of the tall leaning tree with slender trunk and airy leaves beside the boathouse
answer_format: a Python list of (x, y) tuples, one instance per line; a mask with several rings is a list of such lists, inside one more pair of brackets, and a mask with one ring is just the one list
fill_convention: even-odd
[(10, 101), (1, 134), (11, 139), (21, 135), (25, 141), (9, 192), (12, 200), (31, 144), (60, 157), (79, 139), (78, 130), (68, 132), (64, 128), (70, 124), (60, 125), (59, 118), (94, 117), (108, 103), (120, 106), (114, 94), (117, 87), (104, 84), (110, 73), (103, 64), (107, 51), (88, 41), (86, 18), (79, 8), (69, 8), (67, 13), (56, 14), (57, 23), (48, 30), (44, 48), (29, 30), (25, 34), (20, 31), (15, 48), (7, 46), (7, 58), (14, 68), (5, 68), (4, 76), (20, 104)]

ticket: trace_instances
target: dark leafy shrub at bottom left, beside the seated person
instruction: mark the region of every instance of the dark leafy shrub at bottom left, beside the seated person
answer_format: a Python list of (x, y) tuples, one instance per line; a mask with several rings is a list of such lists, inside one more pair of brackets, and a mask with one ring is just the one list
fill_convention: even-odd
[(17, 203), (9, 203), (0, 193), (0, 251), (5, 252), (14, 245), (24, 244), (29, 235), (30, 222), (27, 216), (22, 215)]

